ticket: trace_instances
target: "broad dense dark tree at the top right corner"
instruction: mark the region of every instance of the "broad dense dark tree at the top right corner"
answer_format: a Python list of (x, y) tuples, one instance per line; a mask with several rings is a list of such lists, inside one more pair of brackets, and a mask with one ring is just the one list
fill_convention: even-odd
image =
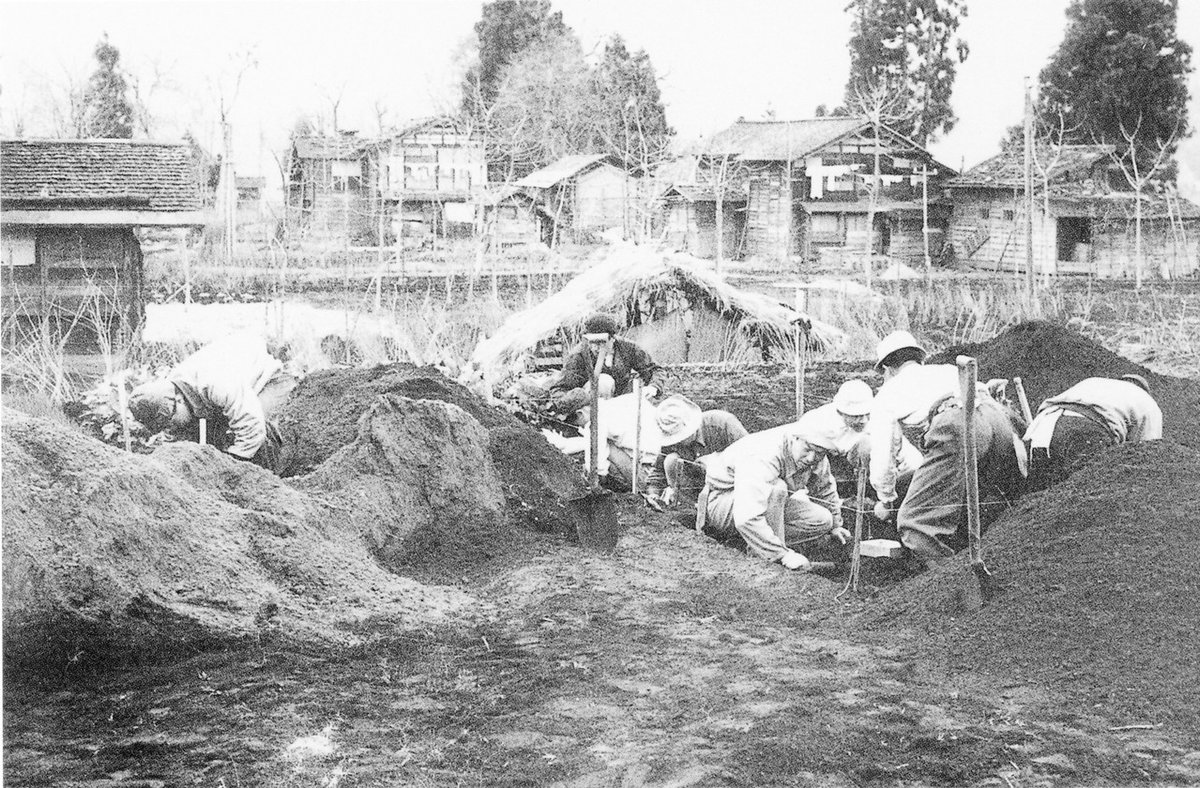
[[(1177, 0), (1072, 0), (1067, 31), (1042, 70), (1038, 114), (1063, 119), (1067, 142), (1174, 151), (1188, 133), (1192, 47), (1176, 35)], [(1124, 130), (1126, 133), (1122, 133)]]

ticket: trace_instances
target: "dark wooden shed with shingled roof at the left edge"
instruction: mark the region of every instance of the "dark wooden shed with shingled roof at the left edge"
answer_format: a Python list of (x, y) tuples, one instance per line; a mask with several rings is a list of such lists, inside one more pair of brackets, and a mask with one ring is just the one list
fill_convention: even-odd
[(187, 145), (0, 142), (5, 341), (30, 331), (89, 344), (144, 315), (136, 228), (204, 224)]

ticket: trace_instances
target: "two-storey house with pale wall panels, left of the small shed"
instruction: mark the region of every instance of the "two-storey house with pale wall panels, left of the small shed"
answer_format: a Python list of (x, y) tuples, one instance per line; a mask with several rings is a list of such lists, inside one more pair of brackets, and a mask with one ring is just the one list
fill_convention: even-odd
[[(422, 246), (433, 239), (470, 237), (487, 186), (484, 143), (450, 118), (430, 118), (372, 143), (371, 199), (382, 205), (383, 241)], [(378, 234), (378, 231), (377, 231)]]

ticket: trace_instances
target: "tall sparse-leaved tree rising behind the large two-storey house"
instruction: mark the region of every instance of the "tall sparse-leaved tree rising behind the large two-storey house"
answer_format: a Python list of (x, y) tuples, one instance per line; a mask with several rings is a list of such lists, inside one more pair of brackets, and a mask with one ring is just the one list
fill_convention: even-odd
[(950, 92), (967, 44), (958, 37), (966, 0), (851, 0), (846, 103), (880, 88), (900, 97), (896, 131), (926, 144), (958, 118)]

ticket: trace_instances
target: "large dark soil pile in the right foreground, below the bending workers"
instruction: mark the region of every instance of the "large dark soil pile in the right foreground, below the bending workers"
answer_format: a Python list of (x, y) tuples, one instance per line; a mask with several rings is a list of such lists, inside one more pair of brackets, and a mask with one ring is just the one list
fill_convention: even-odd
[(1043, 685), (1129, 723), (1200, 734), (1200, 453), (1116, 446), (988, 533), (1001, 594), (960, 557), (894, 588), (872, 624), (914, 631), (935, 674)]

